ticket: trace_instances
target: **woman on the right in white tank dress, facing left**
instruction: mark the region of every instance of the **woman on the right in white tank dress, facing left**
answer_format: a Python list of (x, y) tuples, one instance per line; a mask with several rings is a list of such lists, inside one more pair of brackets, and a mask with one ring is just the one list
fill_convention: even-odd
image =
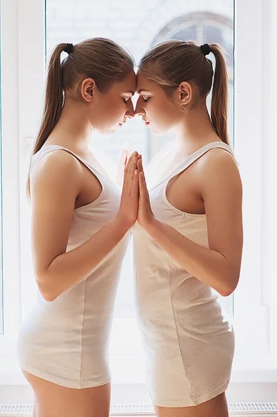
[(140, 61), (137, 92), (135, 114), (153, 133), (175, 129), (179, 141), (149, 193), (137, 162), (136, 297), (149, 391), (158, 417), (227, 417), (234, 335), (212, 288), (228, 296), (239, 280), (242, 184), (228, 142), (220, 47), (154, 47)]

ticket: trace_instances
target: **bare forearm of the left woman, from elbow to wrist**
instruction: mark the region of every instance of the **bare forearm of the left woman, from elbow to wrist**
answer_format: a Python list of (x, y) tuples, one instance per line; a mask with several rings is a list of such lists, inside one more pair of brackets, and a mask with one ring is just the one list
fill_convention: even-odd
[(115, 217), (74, 250), (57, 256), (47, 270), (37, 278), (42, 295), (53, 301), (82, 281), (120, 242), (128, 227)]

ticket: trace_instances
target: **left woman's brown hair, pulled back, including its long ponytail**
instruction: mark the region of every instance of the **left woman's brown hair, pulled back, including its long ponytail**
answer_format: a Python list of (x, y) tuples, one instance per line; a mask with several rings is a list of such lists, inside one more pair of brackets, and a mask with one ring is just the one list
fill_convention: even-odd
[[(69, 56), (60, 63), (62, 51)], [(60, 119), (65, 94), (68, 92), (69, 97), (80, 100), (78, 92), (72, 90), (77, 80), (94, 79), (98, 90), (107, 92), (113, 84), (124, 81), (133, 67), (133, 58), (110, 39), (92, 38), (74, 45), (58, 44), (49, 61), (44, 112), (32, 155), (42, 148)], [(30, 170), (27, 197), (30, 201)]]

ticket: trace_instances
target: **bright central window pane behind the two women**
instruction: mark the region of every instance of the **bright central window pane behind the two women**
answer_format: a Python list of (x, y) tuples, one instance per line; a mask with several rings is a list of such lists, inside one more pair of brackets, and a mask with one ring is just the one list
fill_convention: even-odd
[[(171, 6), (160, 6), (160, 2), (156, 3), (153, 10), (151, 3), (144, 1), (130, 3), (106, 0), (99, 3), (98, 6), (85, 0), (67, 1), (65, 0), (46, 1), (46, 52), (47, 60), (51, 54), (53, 47), (59, 42), (76, 43), (85, 38), (93, 38), (94, 36), (103, 36), (114, 39), (131, 49), (135, 55), (135, 59), (139, 60), (140, 56), (149, 49), (153, 43), (160, 42), (167, 38), (176, 38), (177, 36), (185, 36), (185, 26), (181, 27), (181, 22), (186, 20), (187, 30), (195, 27), (197, 33), (201, 31), (202, 26), (205, 28), (205, 34), (201, 38), (196, 38), (197, 42), (210, 42), (208, 36), (211, 35), (211, 29), (219, 34), (225, 40), (226, 45), (230, 43), (229, 49), (233, 49), (233, 3), (224, 6), (211, 15), (203, 13), (207, 1), (202, 0), (198, 3), (187, 5), (187, 3), (171, 2)], [(161, 10), (162, 9), (162, 10)], [(109, 13), (105, 13), (109, 10)], [(151, 13), (149, 14), (149, 11)], [(157, 14), (160, 16), (157, 19)], [(152, 16), (151, 22), (146, 22)], [(174, 17), (178, 15), (178, 21)], [(138, 30), (138, 16), (143, 22)], [(154, 18), (155, 17), (155, 18)], [(174, 23), (175, 22), (175, 23)], [(225, 25), (224, 26), (224, 22)], [(227, 22), (227, 23), (226, 23)], [(169, 30), (170, 28), (170, 30)], [(183, 33), (183, 34), (182, 34)], [(219, 33), (219, 34), (218, 34)], [(199, 35), (198, 35), (199, 36)], [(162, 38), (163, 37), (163, 38)], [(220, 39), (221, 39), (220, 38)], [(232, 53), (230, 54), (230, 92), (233, 97), (233, 67)], [(36, 96), (37, 99), (38, 95)], [(231, 107), (230, 120), (233, 125), (233, 110)], [(39, 117), (37, 118), (39, 120)], [(34, 134), (34, 133), (33, 133)], [(233, 135), (231, 135), (233, 136)], [(105, 167), (110, 168), (110, 176), (115, 179), (117, 172), (117, 161), (119, 159), (121, 149), (130, 147), (137, 149), (144, 156), (144, 161), (150, 161), (158, 152), (162, 145), (170, 144), (171, 136), (165, 138), (151, 136), (149, 131), (145, 129), (140, 118), (135, 118), (120, 129), (112, 136), (101, 136), (94, 134), (92, 138), (92, 151), (98, 154), (99, 160)], [(31, 139), (28, 140), (29, 145)], [(28, 158), (25, 159), (25, 169), (28, 167)], [(36, 288), (31, 271), (31, 253), (29, 243), (29, 224), (26, 222), (28, 217), (28, 207), (25, 206), (26, 217), (24, 218), (24, 226), (22, 225), (22, 235), (26, 237), (26, 244), (22, 250), (24, 254), (24, 285), (22, 286), (22, 305), (23, 316), (28, 312), (33, 302), (35, 302)], [(27, 238), (28, 236), (28, 238)], [(135, 311), (133, 306), (133, 260), (132, 247), (128, 248), (126, 260), (121, 274), (117, 302), (115, 307), (115, 320), (112, 328), (111, 339), (111, 364), (116, 382), (124, 380), (132, 381), (132, 378), (143, 380), (143, 374), (140, 373), (142, 368), (142, 347), (140, 344), (140, 336), (137, 332), (135, 324)], [(24, 266), (22, 265), (22, 267)], [(228, 313), (233, 313), (233, 296), (222, 298), (225, 309)], [(135, 360), (134, 360), (135, 358)], [(130, 363), (125, 369), (121, 366), (121, 361)], [(135, 373), (132, 369), (135, 368)], [(132, 376), (131, 376), (132, 374)], [(131, 378), (131, 379), (130, 379)]]

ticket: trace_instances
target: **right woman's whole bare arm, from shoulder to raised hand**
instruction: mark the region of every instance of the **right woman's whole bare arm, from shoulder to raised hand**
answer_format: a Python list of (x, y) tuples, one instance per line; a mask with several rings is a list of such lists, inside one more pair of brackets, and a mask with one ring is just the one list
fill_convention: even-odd
[[(203, 164), (199, 164), (199, 188), (205, 203), (209, 248), (158, 221), (149, 213), (149, 208), (142, 219), (142, 227), (185, 270), (227, 296), (235, 290), (240, 277), (242, 183), (233, 157), (222, 152), (208, 153)], [(141, 199), (144, 199), (144, 206), (149, 206), (148, 198), (144, 175), (140, 173), (139, 217)]]

